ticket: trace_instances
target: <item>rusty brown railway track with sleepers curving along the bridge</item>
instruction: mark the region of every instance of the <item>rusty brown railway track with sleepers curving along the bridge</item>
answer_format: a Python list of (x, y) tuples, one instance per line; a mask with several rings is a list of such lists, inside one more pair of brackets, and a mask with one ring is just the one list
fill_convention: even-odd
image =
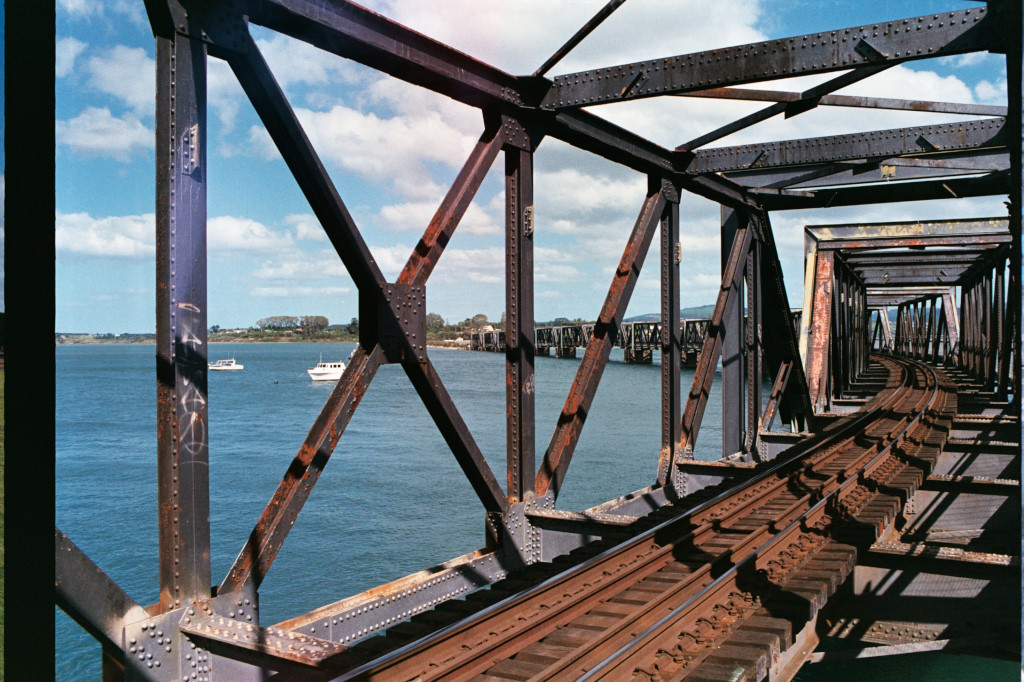
[[(955, 415), (934, 369), (884, 388), (750, 480), (564, 567), (534, 568), (322, 662), (338, 680), (759, 680), (931, 470)], [(881, 383), (880, 381), (880, 383)], [(586, 553), (584, 553), (586, 555)], [(509, 595), (502, 598), (504, 595)], [(380, 655), (368, 660), (374, 646)], [(792, 657), (792, 656), (791, 656)], [(797, 664), (799, 666), (799, 662)]]

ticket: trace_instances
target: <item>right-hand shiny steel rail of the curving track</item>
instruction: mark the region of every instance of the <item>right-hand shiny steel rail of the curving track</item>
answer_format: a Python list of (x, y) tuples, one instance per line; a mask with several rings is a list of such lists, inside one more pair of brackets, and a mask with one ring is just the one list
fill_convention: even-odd
[[(884, 449), (880, 450), (868, 462), (859, 466), (856, 469), (856, 471), (850, 473), (844, 472), (846, 473), (845, 479), (843, 480), (842, 483), (838, 485), (836, 489), (831, 491), (827, 495), (822, 496), (821, 499), (815, 505), (813, 505), (809, 510), (801, 514), (798, 518), (794, 519), (785, 527), (784, 530), (779, 532), (764, 546), (758, 548), (757, 551), (751, 553), (750, 555), (741, 559), (739, 562), (731, 566), (726, 572), (724, 572), (722, 576), (716, 579), (715, 582), (707, 590), (702, 591), (698, 595), (695, 595), (694, 597), (687, 600), (685, 603), (673, 609), (671, 613), (665, 615), (657, 623), (655, 623), (654, 625), (646, 629), (644, 632), (634, 637), (628, 644), (625, 644), (624, 646), (620, 647), (615, 652), (607, 656), (604, 660), (602, 660), (594, 668), (590, 669), (585, 675), (583, 675), (579, 679), (581, 680), (620, 679), (617, 677), (618, 675), (628, 672), (623, 669), (623, 666), (635, 667), (636, 666), (635, 658), (638, 653), (640, 653), (644, 649), (649, 649), (656, 645), (659, 645), (660, 642), (658, 642), (657, 640), (660, 637), (666, 636), (667, 633), (668, 636), (675, 636), (673, 633), (675, 630), (678, 629), (677, 628), (678, 624), (687, 615), (692, 614), (697, 606), (705, 604), (710, 599), (720, 595), (723, 591), (729, 588), (733, 588), (735, 586), (736, 578), (738, 577), (740, 571), (750, 568), (752, 565), (756, 565), (758, 559), (762, 558), (767, 551), (769, 551), (774, 547), (777, 547), (779, 544), (783, 543), (786, 539), (791, 538), (801, 528), (808, 526), (810, 524), (809, 519), (812, 516), (823, 515), (826, 511), (826, 508), (829, 505), (835, 504), (834, 501), (839, 499), (843, 492), (849, 492), (850, 489), (852, 489), (864, 477), (870, 474), (872, 467), (878, 467), (882, 460), (888, 458), (892, 450), (897, 444), (899, 444), (902, 441), (902, 438), (905, 437), (909, 433), (909, 431), (919, 424), (919, 422), (926, 414), (928, 414), (927, 407), (933, 404), (940, 395), (938, 377), (934, 372), (934, 370), (922, 365), (911, 364), (905, 360), (900, 361), (900, 364), (906, 367), (911, 367), (911, 369), (913, 369), (912, 366), (914, 366), (916, 369), (924, 368), (928, 372), (928, 378), (930, 378), (931, 381), (926, 383), (925, 387), (926, 390), (923, 398), (914, 404), (914, 408), (911, 411), (913, 413), (913, 417), (912, 418), (907, 417), (900, 420), (900, 422), (902, 423), (902, 428), (900, 429), (899, 435), (896, 438), (890, 440), (885, 445)], [(908, 376), (910, 376), (913, 373), (910, 372), (907, 374)], [(929, 387), (931, 388), (930, 392), (928, 391)], [(924, 403), (925, 407), (921, 407), (922, 403)]]

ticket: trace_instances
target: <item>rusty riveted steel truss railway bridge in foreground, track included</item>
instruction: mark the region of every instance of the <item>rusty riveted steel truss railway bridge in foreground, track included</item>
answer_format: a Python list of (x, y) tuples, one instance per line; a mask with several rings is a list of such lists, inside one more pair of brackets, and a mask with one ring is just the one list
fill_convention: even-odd
[[(1019, 604), (1019, 517), (1014, 511), (1008, 521), (999, 509), (1020, 501), (1020, 4), (990, 0), (547, 76), (621, 4), (609, 2), (532, 75), (516, 76), (344, 0), (145, 2), (157, 43), (159, 602), (137, 603), (55, 530), (56, 603), (101, 644), (104, 679), (785, 679), (807, 660), (835, 657), (812, 653), (824, 634), (857, 642), (852, 655), (966, 643), (1019, 655), (1015, 616), (1008, 626), (1000, 611), (985, 611), (982, 597), (994, 593), (998, 602), (1001, 595), (1004, 619), (1007, 603)], [(381, 273), (250, 24), (481, 112), (479, 140), (395, 282)], [(835, 94), (895, 65), (985, 51), (1006, 56), (1008, 108)], [(297, 454), (282, 460), (280, 486), (219, 582), (210, 563), (210, 497), (217, 491), (210, 489), (207, 430), (195, 428), (208, 420), (210, 58), (230, 68), (308, 199), (358, 288), (360, 321), (347, 370)], [(757, 87), (829, 73), (839, 75), (801, 92)], [(674, 96), (765, 105), (675, 148), (593, 108)], [(962, 120), (708, 146), (818, 106)], [(540, 453), (534, 157), (547, 138), (642, 173), (648, 183)], [(424, 307), (431, 272), (499, 157), (506, 201), (503, 483), (431, 363)], [(721, 205), (722, 237), (721, 287), (685, 394), (682, 193)], [(1008, 214), (809, 227), (804, 314), (795, 331), (773, 211), (978, 196), (1009, 197)], [(558, 509), (614, 331), (652, 247), (660, 271), (662, 449), (656, 466), (651, 454), (651, 485), (593, 509)], [(719, 359), (723, 458), (695, 462)], [(479, 498), (483, 547), (264, 623), (260, 585), (385, 364), (404, 370)], [(956, 515), (963, 496), (977, 503), (971, 521)], [(914, 601), (912, 591), (900, 591), (907, 576), (926, 587), (975, 581), (978, 596), (955, 607)], [(819, 619), (838, 593), (848, 601)], [(944, 615), (903, 610), (934, 601), (944, 604)], [(963, 617), (968, 612), (975, 623)]]

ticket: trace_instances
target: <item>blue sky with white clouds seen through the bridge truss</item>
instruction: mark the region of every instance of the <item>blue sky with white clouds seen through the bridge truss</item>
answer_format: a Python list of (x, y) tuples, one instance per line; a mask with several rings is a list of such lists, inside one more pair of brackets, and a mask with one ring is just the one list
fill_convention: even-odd
[[(375, 0), (370, 8), (514, 74), (531, 73), (604, 0)], [(859, 24), (978, 7), (969, 0), (630, 0), (550, 75)], [(56, 3), (56, 322), (61, 332), (155, 327), (154, 39), (141, 0)], [(482, 131), (480, 114), (253, 27), (364, 239), (394, 280)], [(831, 76), (779, 82), (790, 90)], [(1006, 103), (1001, 55), (896, 67), (844, 93)], [(259, 120), (209, 60), (209, 322), (246, 327), (273, 314), (347, 323), (357, 296)], [(591, 111), (666, 146), (760, 109), (683, 97)], [(715, 145), (955, 120), (821, 108), (771, 120)], [(538, 319), (597, 315), (646, 180), (557, 140), (536, 156)], [(2, 190), (0, 183), (0, 190)], [(456, 322), (504, 309), (503, 164), (499, 161), (427, 288), (430, 311)], [(791, 301), (802, 301), (803, 225), (1002, 215), (1002, 198), (772, 215)], [(713, 302), (717, 205), (684, 196), (684, 306)], [(655, 247), (656, 251), (656, 242)], [(657, 257), (628, 314), (653, 312)]]

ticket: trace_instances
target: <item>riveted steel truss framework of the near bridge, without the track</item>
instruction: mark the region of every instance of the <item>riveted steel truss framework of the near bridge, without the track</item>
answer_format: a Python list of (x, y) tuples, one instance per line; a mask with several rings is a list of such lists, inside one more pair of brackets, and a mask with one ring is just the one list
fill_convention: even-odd
[[(865, 367), (869, 310), (883, 305), (880, 297), (891, 296), (885, 305), (900, 309), (893, 340), (887, 341), (893, 351), (954, 356), (1019, 404), (1020, 377), (1013, 371), (1021, 366), (1019, 4), (992, 0), (943, 14), (548, 79), (545, 74), (550, 68), (618, 4), (612, 0), (537, 73), (517, 77), (344, 0), (146, 1), (157, 41), (158, 90), (159, 603), (137, 604), (56, 530), (57, 603), (102, 644), (108, 673), (128, 679), (183, 679), (182, 672), (187, 677), (198, 659), (198, 670), (207, 677), (216, 671), (211, 679), (263, 679), (261, 667), (292, 670), (297, 662), (309, 664), (317, 656), (329, 656), (342, 642), (379, 632), (385, 623), (400, 622), (517, 566), (580, 546), (595, 527), (614, 523), (615, 514), (631, 513), (628, 499), (586, 514), (557, 512), (554, 506), (655, 231), (660, 235), (656, 249), (662, 289), (662, 451), (656, 480), (645, 492), (649, 499), (674, 499), (691, 484), (689, 460), (720, 358), (723, 404), (743, 407), (723, 411), (723, 455), (761, 457), (776, 415), (797, 432), (815, 430), (831, 397), (842, 393), (844, 385)], [(250, 23), (481, 111), (480, 138), (397, 281), (387, 282), (381, 273), (253, 41)], [(1007, 55), (1007, 111), (831, 94), (904, 61), (984, 50)], [(348, 369), (287, 467), (249, 541), (212, 593), (205, 429), (208, 57), (227, 62), (263, 121), (358, 288), (360, 321), (358, 348)], [(800, 93), (732, 87), (831, 72), (844, 73)], [(586, 109), (664, 96), (770, 103), (758, 114), (676, 148), (654, 144)], [(794, 117), (819, 105), (979, 118), (831, 137), (706, 146), (770, 117)], [(643, 173), (648, 185), (575, 381), (542, 454), (534, 446), (534, 155), (546, 137)], [(508, 479), (504, 485), (490, 471), (447, 394), (425, 343), (430, 274), (499, 156), (504, 162), (506, 197)], [(865, 183), (887, 177), (901, 181)], [(685, 401), (679, 359), (681, 191), (722, 207), (722, 285)], [(865, 269), (872, 265), (870, 258), (858, 260), (854, 247), (848, 248), (848, 254), (835, 244), (825, 249), (818, 242), (805, 286), (809, 295), (813, 293), (812, 312), (808, 314), (805, 307), (805, 331), (798, 337), (769, 221), (771, 211), (950, 195), (1010, 197), (1009, 217), (1001, 219), (1005, 239), (1000, 244), (1006, 248), (998, 262), (969, 264), (964, 272), (970, 270), (970, 276), (965, 274), (967, 279), (954, 285), (966, 292), (958, 325), (951, 322), (951, 299), (944, 298), (945, 293), (932, 290), (910, 295), (906, 293), (909, 283), (894, 287), (872, 281)], [(979, 256), (988, 257), (987, 251)], [(923, 259), (911, 269), (920, 278), (932, 266)], [(948, 292), (950, 285), (945, 286)], [(935, 302), (939, 299), (945, 301), (941, 316)], [(883, 323), (877, 319), (878, 336), (882, 336)], [(256, 607), (260, 583), (384, 364), (401, 365), (472, 484), (487, 518), (486, 546), (428, 577), (411, 577), (287, 624), (266, 627), (259, 623)], [(771, 381), (766, 404), (761, 401), (763, 376)], [(225, 619), (254, 630), (215, 627)], [(317, 630), (321, 622), (331, 625)], [(151, 643), (154, 633), (159, 633), (159, 646), (143, 652), (141, 644)]]

